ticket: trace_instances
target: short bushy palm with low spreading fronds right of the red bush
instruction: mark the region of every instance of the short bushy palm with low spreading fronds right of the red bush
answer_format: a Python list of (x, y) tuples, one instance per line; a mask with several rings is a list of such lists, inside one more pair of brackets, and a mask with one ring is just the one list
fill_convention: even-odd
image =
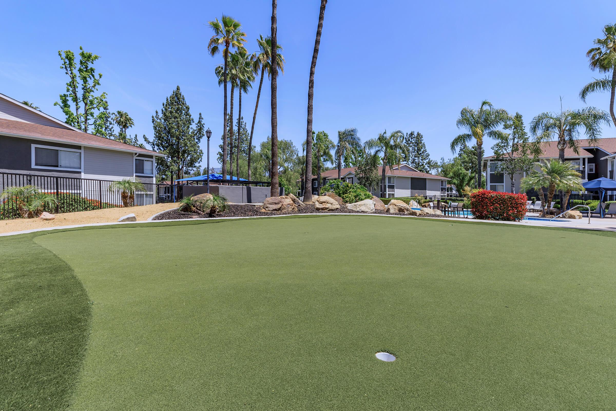
[[(540, 161), (535, 163), (535, 165), (538, 171), (524, 177), (520, 182), (520, 187), (524, 191), (529, 189), (537, 190), (541, 201), (543, 201), (543, 187), (548, 189), (548, 198), (546, 198), (544, 203), (548, 208), (546, 209), (544, 206), (541, 213), (542, 216), (545, 216), (546, 213), (550, 211), (549, 205), (554, 198), (554, 192), (556, 192), (557, 189), (579, 189), (582, 184), (582, 174), (575, 170), (577, 166), (573, 165), (570, 161), (563, 162), (553, 159), (546, 162)], [(567, 199), (569, 199), (568, 196)]]

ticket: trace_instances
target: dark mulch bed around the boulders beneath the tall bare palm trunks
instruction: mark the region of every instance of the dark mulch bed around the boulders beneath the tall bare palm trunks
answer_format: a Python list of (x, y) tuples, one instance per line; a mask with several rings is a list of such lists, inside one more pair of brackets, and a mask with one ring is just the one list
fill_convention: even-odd
[[(339, 213), (353, 213), (353, 214), (365, 214), (360, 211), (352, 211), (346, 208), (346, 205), (341, 205), (338, 210), (334, 211), (321, 211), (315, 210), (314, 204), (304, 204), (304, 206), (299, 207), (298, 211), (259, 211), (261, 207), (257, 209), (254, 205), (245, 205), (245, 204), (230, 204), (227, 210), (224, 213), (216, 214), (216, 217), (253, 217), (253, 216), (282, 216), (282, 215), (291, 215), (291, 214), (339, 214)], [(370, 214), (385, 214), (385, 211), (375, 210)], [(395, 215), (395, 214), (393, 214)], [(400, 214), (403, 215), (403, 214)], [(437, 216), (430, 215), (427, 217), (445, 217), (445, 216)], [(195, 213), (184, 213), (178, 210), (166, 211), (166, 213), (159, 214), (156, 216), (155, 220), (174, 220), (174, 219), (188, 219), (188, 218), (208, 218), (207, 215), (204, 214), (195, 214)]]

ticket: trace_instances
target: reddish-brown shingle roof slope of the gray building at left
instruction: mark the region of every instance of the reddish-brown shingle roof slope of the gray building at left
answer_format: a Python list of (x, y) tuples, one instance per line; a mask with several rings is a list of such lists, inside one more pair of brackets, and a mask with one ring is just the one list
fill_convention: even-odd
[(83, 131), (73, 131), (57, 127), (42, 126), (41, 124), (25, 123), (24, 121), (0, 119), (0, 134), (17, 134), (24, 137), (38, 137), (41, 139), (57, 140), (77, 145), (89, 145), (93, 147), (113, 150), (131, 151), (135, 153), (147, 153), (161, 155), (161, 153), (124, 144), (116, 140), (95, 136)]

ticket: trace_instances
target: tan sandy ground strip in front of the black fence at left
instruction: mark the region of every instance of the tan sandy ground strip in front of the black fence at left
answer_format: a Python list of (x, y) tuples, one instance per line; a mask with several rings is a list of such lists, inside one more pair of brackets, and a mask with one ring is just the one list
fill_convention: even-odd
[(106, 208), (104, 210), (79, 211), (78, 213), (55, 214), (55, 219), (43, 221), (38, 218), (18, 218), (14, 220), (0, 220), (0, 233), (42, 229), (46, 227), (73, 226), (75, 224), (91, 224), (94, 222), (115, 222), (126, 214), (135, 214), (137, 221), (145, 221), (160, 211), (170, 210), (179, 206), (179, 203), (163, 203), (148, 206), (128, 208)]

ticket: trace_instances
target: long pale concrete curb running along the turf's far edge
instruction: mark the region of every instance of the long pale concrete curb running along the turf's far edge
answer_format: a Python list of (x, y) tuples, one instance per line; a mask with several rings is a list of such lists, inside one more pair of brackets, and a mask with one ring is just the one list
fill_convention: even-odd
[[(175, 210), (175, 209), (172, 209)], [(169, 211), (169, 210), (166, 210)], [(161, 211), (161, 213), (164, 213), (164, 211)], [(158, 215), (160, 213), (155, 214)], [(52, 230), (62, 230), (62, 229), (72, 229), (72, 228), (78, 228), (78, 227), (102, 227), (102, 226), (121, 226), (123, 224), (144, 224), (144, 223), (157, 223), (157, 222), (167, 222), (167, 221), (200, 221), (200, 220), (238, 220), (238, 219), (247, 219), (247, 218), (278, 218), (278, 217), (288, 217), (288, 216), (321, 216), (321, 217), (330, 217), (330, 216), (376, 216), (376, 217), (402, 217), (402, 218), (422, 218), (422, 217), (415, 217), (415, 216), (407, 216), (405, 214), (370, 214), (370, 213), (365, 213), (365, 214), (359, 214), (359, 213), (332, 213), (332, 214), (315, 214), (315, 213), (305, 213), (305, 214), (280, 214), (278, 216), (247, 216), (247, 217), (215, 217), (215, 218), (190, 218), (190, 219), (172, 219), (172, 220), (156, 220), (156, 221), (151, 221), (151, 220), (146, 220), (146, 221), (131, 221), (131, 222), (95, 222), (92, 224), (77, 224), (75, 226), (61, 226), (61, 227), (44, 227), (41, 229), (32, 229), (32, 230), (23, 230), (23, 231), (14, 231), (14, 232), (7, 232), (7, 233), (1, 233), (0, 237), (7, 237), (9, 235), (18, 235), (18, 234), (28, 234), (28, 233), (33, 233), (33, 232), (38, 232), (38, 231), (52, 231)], [(152, 216), (153, 218), (154, 216)], [(426, 219), (426, 218), (423, 218)], [(565, 225), (553, 225), (553, 224), (562, 224), (561, 222), (558, 221), (554, 221), (553, 223), (549, 223), (549, 225), (546, 225), (545, 222), (537, 222), (537, 221), (492, 221), (492, 220), (476, 220), (476, 219), (463, 219), (463, 218), (450, 218), (450, 217), (441, 217), (441, 218), (435, 218), (435, 219), (439, 219), (439, 220), (446, 220), (446, 221), (453, 221), (453, 222), (490, 222), (493, 224), (517, 224), (517, 225), (525, 225), (525, 226), (530, 226), (530, 227), (556, 227), (556, 228), (572, 228), (572, 229), (578, 229), (578, 230), (591, 230), (591, 231), (616, 231), (616, 229), (606, 229), (606, 228), (599, 228), (599, 227), (572, 227), (572, 226), (567, 226)], [(539, 223), (539, 224), (536, 224)]]

